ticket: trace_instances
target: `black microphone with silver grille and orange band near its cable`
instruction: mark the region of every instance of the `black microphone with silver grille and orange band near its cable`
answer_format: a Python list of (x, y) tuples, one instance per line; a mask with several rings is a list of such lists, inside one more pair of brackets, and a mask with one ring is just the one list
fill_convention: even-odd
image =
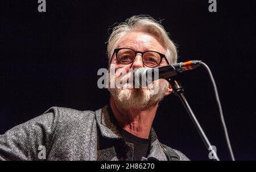
[(158, 68), (148, 68), (140, 67), (134, 72), (134, 81), (135, 84), (142, 85), (145, 87), (147, 84), (150, 84), (154, 80), (158, 79), (168, 79), (172, 76), (177, 75), (177, 73), (193, 70), (201, 65), (202, 61), (187, 61), (175, 63), (173, 65), (158, 67)]

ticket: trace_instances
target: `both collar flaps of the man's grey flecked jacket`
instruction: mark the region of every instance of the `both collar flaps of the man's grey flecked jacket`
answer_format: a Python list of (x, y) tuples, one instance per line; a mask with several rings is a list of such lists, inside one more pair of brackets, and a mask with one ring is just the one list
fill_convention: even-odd
[[(114, 119), (114, 115), (112, 114), (112, 110), (109, 105), (104, 106), (95, 113), (96, 121), (103, 137), (108, 139), (123, 138), (121, 132), (118, 130), (117, 122)], [(150, 130), (150, 152), (148, 157), (143, 157), (142, 160), (167, 160), (166, 154), (164, 154), (163, 149), (160, 147), (160, 142), (153, 128)]]

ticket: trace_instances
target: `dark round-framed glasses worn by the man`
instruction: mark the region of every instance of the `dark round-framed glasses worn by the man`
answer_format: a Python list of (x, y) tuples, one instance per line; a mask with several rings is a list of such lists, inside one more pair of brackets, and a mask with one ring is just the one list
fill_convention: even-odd
[[(135, 51), (130, 48), (118, 48), (118, 49), (114, 49), (114, 53), (115, 53), (115, 56), (117, 57), (117, 61), (123, 65), (129, 65), (130, 63), (133, 63), (138, 53), (142, 54), (142, 62), (147, 67), (157, 67), (162, 62), (162, 59), (166, 58), (166, 55), (161, 54), (157, 51), (151, 51), (151, 50), (142, 52), (142, 51)], [(168, 65), (170, 65), (168, 61), (167, 63)]]

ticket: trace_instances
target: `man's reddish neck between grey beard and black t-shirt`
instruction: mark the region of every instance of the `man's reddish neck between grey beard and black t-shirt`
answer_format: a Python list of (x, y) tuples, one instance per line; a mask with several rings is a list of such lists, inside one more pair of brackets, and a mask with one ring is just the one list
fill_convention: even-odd
[(137, 137), (148, 139), (158, 103), (146, 109), (124, 109), (111, 97), (110, 106), (119, 127)]

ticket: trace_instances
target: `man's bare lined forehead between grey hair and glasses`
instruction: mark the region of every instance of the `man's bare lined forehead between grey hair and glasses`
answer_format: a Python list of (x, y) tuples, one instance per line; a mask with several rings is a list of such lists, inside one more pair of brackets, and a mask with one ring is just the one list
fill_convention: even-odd
[(118, 48), (131, 48), (135, 51), (154, 50), (159, 53), (166, 53), (166, 50), (156, 39), (155, 36), (145, 32), (130, 32), (121, 38), (118, 42)]

